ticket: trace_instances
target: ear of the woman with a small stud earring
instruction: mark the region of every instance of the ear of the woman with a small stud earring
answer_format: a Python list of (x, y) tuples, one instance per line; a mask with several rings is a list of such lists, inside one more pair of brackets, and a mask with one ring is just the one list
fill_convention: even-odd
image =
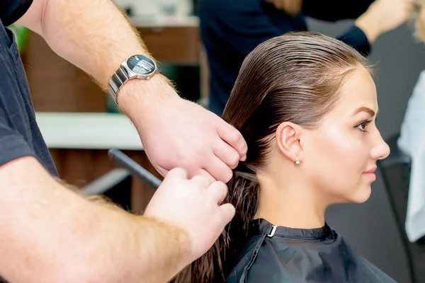
[(283, 122), (276, 129), (276, 142), (284, 156), (294, 163), (302, 160), (302, 127), (292, 122)]

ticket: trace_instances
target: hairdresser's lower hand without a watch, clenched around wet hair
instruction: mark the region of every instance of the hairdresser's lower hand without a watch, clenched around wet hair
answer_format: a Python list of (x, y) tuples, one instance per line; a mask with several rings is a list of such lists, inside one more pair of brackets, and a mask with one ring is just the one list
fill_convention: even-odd
[(222, 204), (226, 195), (225, 183), (212, 183), (200, 175), (188, 180), (186, 171), (181, 168), (169, 171), (155, 192), (145, 216), (179, 226), (191, 241), (190, 252), (181, 262), (181, 268), (206, 253), (232, 220), (234, 207)]

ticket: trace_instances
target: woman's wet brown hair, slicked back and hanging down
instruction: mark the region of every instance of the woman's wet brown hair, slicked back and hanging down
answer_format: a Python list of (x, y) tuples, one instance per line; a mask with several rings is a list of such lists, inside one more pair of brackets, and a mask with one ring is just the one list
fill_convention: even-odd
[(268, 162), (280, 123), (308, 129), (336, 105), (341, 87), (367, 60), (344, 42), (318, 33), (288, 33), (256, 47), (245, 59), (222, 115), (246, 143), (246, 161), (227, 183), (225, 202), (236, 208), (234, 219), (205, 255), (174, 282), (224, 282), (246, 244), (249, 223), (259, 206), (256, 172)]

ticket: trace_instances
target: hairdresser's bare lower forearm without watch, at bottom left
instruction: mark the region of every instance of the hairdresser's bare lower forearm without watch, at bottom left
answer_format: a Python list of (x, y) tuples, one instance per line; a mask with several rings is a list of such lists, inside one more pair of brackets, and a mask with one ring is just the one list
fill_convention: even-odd
[(0, 274), (10, 282), (165, 282), (183, 266), (179, 229), (94, 204), (35, 158), (0, 168)]

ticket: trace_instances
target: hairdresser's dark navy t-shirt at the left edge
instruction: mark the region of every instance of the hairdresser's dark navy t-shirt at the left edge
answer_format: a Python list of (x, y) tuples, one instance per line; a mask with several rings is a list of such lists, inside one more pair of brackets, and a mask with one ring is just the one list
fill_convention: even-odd
[(7, 28), (23, 16), (32, 0), (0, 1), (0, 166), (23, 156), (34, 156), (57, 175), (35, 120), (30, 89), (16, 40)]

